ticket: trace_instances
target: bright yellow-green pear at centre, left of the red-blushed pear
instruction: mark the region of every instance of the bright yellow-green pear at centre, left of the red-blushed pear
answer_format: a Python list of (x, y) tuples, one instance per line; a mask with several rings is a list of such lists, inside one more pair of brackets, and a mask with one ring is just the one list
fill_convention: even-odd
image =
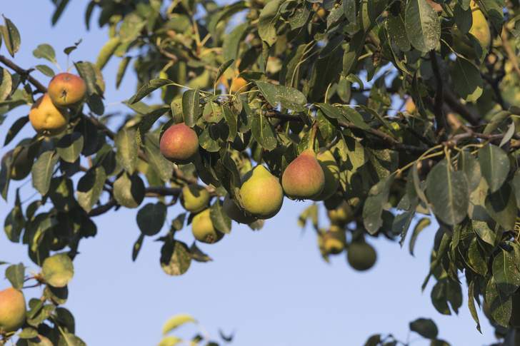
[(262, 165), (258, 165), (241, 178), (240, 196), (247, 213), (259, 219), (276, 215), (284, 202), (284, 190), (279, 180)]

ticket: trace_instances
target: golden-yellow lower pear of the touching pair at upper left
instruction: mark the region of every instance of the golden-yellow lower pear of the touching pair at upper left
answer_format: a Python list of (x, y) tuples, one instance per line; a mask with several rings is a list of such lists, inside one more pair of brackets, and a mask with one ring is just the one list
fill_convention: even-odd
[(69, 112), (57, 108), (48, 93), (44, 93), (31, 107), (29, 121), (37, 133), (44, 136), (56, 136), (65, 131), (69, 122)]

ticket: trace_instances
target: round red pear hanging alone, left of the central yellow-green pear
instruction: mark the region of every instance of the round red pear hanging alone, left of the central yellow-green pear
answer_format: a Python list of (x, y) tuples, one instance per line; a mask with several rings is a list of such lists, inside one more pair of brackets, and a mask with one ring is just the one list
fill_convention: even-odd
[(199, 137), (184, 123), (177, 123), (164, 131), (159, 147), (167, 160), (186, 165), (194, 161), (199, 151)]

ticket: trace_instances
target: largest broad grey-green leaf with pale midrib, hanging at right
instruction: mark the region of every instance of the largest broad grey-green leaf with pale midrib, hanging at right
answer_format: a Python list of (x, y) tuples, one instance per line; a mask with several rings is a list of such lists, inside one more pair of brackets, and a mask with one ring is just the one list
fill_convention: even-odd
[(431, 168), (426, 177), (426, 195), (431, 209), (444, 223), (454, 225), (466, 218), (468, 179), (464, 172), (454, 171), (446, 160)]

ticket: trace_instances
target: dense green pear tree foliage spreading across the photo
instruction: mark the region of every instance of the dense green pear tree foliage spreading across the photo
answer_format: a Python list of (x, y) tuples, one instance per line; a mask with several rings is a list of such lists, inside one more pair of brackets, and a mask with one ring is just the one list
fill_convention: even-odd
[[(54, 2), (56, 23), (69, 1)], [(11, 178), (24, 150), (39, 193), (22, 205), (17, 190), (6, 235), (27, 245), (36, 265), (56, 253), (74, 260), (81, 240), (96, 235), (97, 215), (139, 208), (142, 234), (134, 260), (144, 240), (157, 236), (164, 243), (161, 268), (181, 275), (191, 260), (210, 260), (195, 242), (176, 240), (192, 213), (177, 215), (159, 234), (184, 186), (204, 184), (213, 227), (232, 236), (221, 202), (228, 193), (244, 211), (241, 178), (253, 166), (265, 165), (281, 181), (299, 153), (325, 147), (339, 167), (339, 187), (304, 210), (302, 225), (311, 218), (321, 236), (318, 208), (343, 210), (339, 225), (349, 234), (348, 251), (349, 243), (368, 236), (402, 245), (411, 219), (424, 214), (409, 235), (413, 253), (419, 232), (436, 218), (440, 227), (424, 283), (436, 280), (434, 307), (442, 314), (458, 312), (465, 283), (476, 327), (482, 302), (497, 328), (508, 327), (520, 286), (520, 68), (514, 53), (520, 9), (517, 1), (477, 5), (488, 21), (490, 47), (468, 34), (475, 6), (468, 0), (251, 0), (224, 6), (212, 0), (91, 1), (87, 28), (99, 7), (96, 22), (108, 26), (110, 36), (95, 63), (74, 63), (87, 97), (69, 109), (66, 131), (17, 138), (4, 157), (1, 196), (6, 199), (16, 184)], [(326, 11), (319, 15), (320, 7)], [(476, 58), (452, 50), (454, 24), (467, 34)], [(46, 61), (26, 70), (11, 60), (21, 44), (15, 24), (5, 18), (0, 31), (11, 54), (0, 56), (1, 123), (9, 111), (47, 91), (32, 72), (54, 76), (46, 61), (56, 63), (56, 52), (41, 44), (33, 54)], [(138, 80), (125, 102), (124, 124), (116, 129), (103, 98), (102, 71), (110, 59), (119, 60), (117, 86), (132, 68)], [(4, 144), (27, 122), (14, 122)], [(198, 136), (192, 163), (178, 166), (161, 155), (161, 136), (174, 123), (185, 123)], [(145, 197), (156, 200), (145, 203)], [(250, 227), (264, 223), (269, 220)], [(67, 273), (74, 273), (71, 264)], [(66, 302), (66, 285), (53, 287), (48, 276), (44, 270), (30, 278), (46, 288), (44, 297), (29, 301), (19, 344), (40, 337), (54, 345), (83, 345), (74, 335), (74, 317), (59, 306)], [(22, 264), (9, 266), (6, 278), (15, 288), (29, 280)], [(514, 328), (506, 329), (505, 337), (511, 333)]]

